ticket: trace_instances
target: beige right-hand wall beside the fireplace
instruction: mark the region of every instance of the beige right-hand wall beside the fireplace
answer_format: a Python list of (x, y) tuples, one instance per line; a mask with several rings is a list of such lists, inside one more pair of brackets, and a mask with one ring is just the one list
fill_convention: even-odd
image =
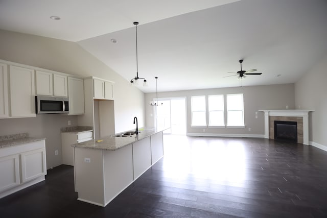
[(314, 65), (295, 83), (295, 105), (313, 109), (309, 120), (310, 144), (327, 151), (327, 56)]

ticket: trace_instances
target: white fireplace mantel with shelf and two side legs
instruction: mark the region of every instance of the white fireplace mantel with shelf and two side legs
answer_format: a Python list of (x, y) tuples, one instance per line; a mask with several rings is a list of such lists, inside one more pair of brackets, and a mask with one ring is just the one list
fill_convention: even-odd
[(309, 144), (309, 112), (314, 110), (259, 110), (265, 113), (265, 138), (269, 138), (269, 116), (297, 116), (303, 119), (303, 144)]

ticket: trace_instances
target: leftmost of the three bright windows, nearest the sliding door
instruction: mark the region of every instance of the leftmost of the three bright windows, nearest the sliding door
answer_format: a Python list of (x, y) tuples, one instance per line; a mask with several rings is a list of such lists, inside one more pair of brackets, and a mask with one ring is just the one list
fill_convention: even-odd
[(192, 126), (206, 126), (205, 96), (191, 97)]

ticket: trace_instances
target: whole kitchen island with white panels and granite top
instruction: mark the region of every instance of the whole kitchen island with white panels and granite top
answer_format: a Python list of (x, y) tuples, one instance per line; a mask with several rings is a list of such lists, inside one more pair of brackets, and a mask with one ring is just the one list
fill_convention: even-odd
[(164, 130), (142, 128), (138, 135), (73, 144), (78, 200), (106, 206), (164, 156)]

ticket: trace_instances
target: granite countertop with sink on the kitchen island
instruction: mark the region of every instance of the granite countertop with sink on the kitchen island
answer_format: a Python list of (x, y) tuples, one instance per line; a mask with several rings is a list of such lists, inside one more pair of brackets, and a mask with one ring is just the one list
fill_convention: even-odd
[[(127, 136), (127, 137), (106, 136), (104, 138), (101, 138), (100, 140), (102, 140), (102, 141), (100, 141), (100, 142), (97, 142), (95, 139), (92, 139), (89, 141), (72, 144), (72, 147), (116, 151), (125, 146), (128, 146), (128, 144), (131, 144), (133, 142), (147, 138), (153, 134), (164, 131), (166, 129), (167, 128), (144, 127), (144, 128), (139, 128), (138, 135), (134, 134), (134, 135)], [(125, 132), (127, 132), (127, 131), (125, 131)], [(124, 132), (122, 132), (121, 134), (123, 134), (123, 133)], [(119, 134), (116, 134), (116, 135), (119, 135)]]

